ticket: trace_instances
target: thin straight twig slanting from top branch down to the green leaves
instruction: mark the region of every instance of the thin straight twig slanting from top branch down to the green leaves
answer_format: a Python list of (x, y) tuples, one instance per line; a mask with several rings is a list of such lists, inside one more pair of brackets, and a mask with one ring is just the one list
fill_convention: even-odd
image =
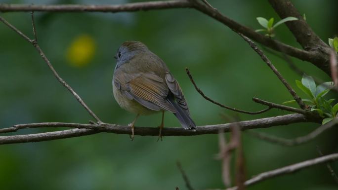
[(273, 71), (273, 73), (282, 81), (284, 86), (288, 89), (290, 94), (294, 97), (299, 107), (305, 110), (305, 104), (301, 100), (301, 98), (296, 94), (296, 91), (290, 86), (290, 84), (285, 80), (285, 78), (278, 72), (274, 65), (272, 65), (271, 61), (266, 57), (266, 55), (258, 48), (258, 46), (248, 37), (244, 36), (241, 33), (237, 33), (240, 35), (249, 45), (253, 48), (253, 50), (260, 56), (260, 58), (268, 65), (268, 67)]

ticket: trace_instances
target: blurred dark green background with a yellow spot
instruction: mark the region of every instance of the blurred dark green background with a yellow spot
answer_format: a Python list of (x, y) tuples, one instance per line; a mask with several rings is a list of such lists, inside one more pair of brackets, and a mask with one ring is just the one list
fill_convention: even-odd
[[(127, 3), (128, 0), (0, 0), (4, 3)], [(337, 35), (337, 0), (293, 0), (307, 22), (325, 42)], [(255, 17), (280, 20), (265, 0), (210, 0), (228, 17), (259, 29)], [(30, 13), (1, 13), (5, 19), (32, 35)], [(104, 122), (126, 125), (135, 115), (122, 110), (112, 93), (113, 56), (125, 40), (144, 42), (159, 55), (180, 82), (197, 125), (226, 123), (220, 114), (241, 120), (288, 114), (271, 110), (260, 115), (236, 114), (203, 99), (185, 74), (188, 67), (198, 86), (211, 98), (247, 111), (265, 107), (252, 97), (282, 103), (292, 97), (250, 46), (223, 24), (193, 9), (151, 10), (133, 13), (40, 13), (36, 26), (39, 43), (56, 71)], [(299, 47), (285, 25), (276, 38)], [(300, 79), (288, 64), (267, 53), (282, 75), (295, 85)], [(293, 59), (310, 76), (331, 80), (312, 64)], [(329, 94), (334, 96), (334, 94)], [(294, 105), (296, 106), (296, 105)], [(0, 23), (0, 127), (32, 122), (79, 122), (92, 119), (76, 99), (55, 79), (36, 50)], [(137, 126), (156, 127), (161, 115), (141, 116)], [(165, 115), (165, 126), (179, 126)], [(255, 131), (295, 138), (318, 124), (298, 123)], [(60, 129), (27, 129), (13, 134)], [(244, 132), (247, 178), (324, 154), (338, 151), (337, 129), (297, 147), (263, 142)], [(9, 135), (9, 134), (2, 134)], [(185, 190), (176, 167), (179, 160), (196, 189), (223, 188), (217, 135), (194, 137), (136, 136), (101, 133), (55, 141), (0, 146), (1, 190)], [(338, 163), (333, 163), (338, 171)], [(334, 190), (325, 165), (258, 183), (249, 190)]]

